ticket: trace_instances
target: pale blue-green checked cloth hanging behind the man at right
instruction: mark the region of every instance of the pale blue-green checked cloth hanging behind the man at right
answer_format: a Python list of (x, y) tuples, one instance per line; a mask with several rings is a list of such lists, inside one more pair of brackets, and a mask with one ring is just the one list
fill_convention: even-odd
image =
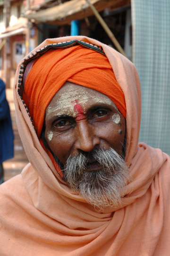
[(170, 155), (170, 1), (132, 0), (131, 6), (142, 91), (139, 141)]

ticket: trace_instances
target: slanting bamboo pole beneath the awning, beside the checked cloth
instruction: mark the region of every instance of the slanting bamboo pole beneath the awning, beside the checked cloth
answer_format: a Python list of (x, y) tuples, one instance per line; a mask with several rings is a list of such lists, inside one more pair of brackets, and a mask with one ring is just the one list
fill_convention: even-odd
[(95, 17), (98, 19), (98, 21), (100, 22), (100, 24), (102, 25), (102, 27), (104, 28), (104, 30), (106, 31), (107, 35), (110, 37), (111, 41), (113, 42), (113, 44), (116, 46), (116, 48), (118, 49), (119, 53), (123, 54), (125, 57), (127, 57), (126, 53), (124, 52), (123, 48), (121, 47), (121, 45), (119, 44), (118, 40), (116, 39), (116, 37), (113, 35), (113, 33), (111, 32), (110, 28), (107, 26), (106, 22), (103, 20), (103, 18), (101, 17), (101, 15), (99, 14), (99, 12), (96, 10), (96, 8), (93, 6), (93, 4), (90, 2), (90, 0), (86, 0), (87, 3), (89, 4), (90, 8), (93, 11), (93, 14), (95, 15)]

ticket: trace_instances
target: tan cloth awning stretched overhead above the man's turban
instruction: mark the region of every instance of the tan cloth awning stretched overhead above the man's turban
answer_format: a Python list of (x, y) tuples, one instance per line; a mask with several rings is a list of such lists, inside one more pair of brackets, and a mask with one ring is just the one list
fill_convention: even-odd
[[(94, 7), (100, 12), (111, 7), (117, 9), (130, 4), (130, 0), (91, 0)], [(52, 8), (38, 11), (29, 10), (25, 17), (38, 22), (66, 25), (72, 20), (83, 19), (93, 15), (92, 9), (86, 0), (70, 0)]]

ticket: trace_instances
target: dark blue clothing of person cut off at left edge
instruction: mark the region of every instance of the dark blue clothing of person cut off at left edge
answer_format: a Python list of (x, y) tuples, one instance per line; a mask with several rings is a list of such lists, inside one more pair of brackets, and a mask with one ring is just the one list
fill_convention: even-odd
[(14, 157), (14, 133), (5, 84), (0, 79), (0, 163)]

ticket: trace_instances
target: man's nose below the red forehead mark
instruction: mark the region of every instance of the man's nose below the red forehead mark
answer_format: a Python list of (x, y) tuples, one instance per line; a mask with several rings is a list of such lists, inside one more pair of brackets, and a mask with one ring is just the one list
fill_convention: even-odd
[(96, 136), (94, 127), (83, 120), (76, 124), (76, 150), (90, 152), (96, 145), (100, 144), (100, 138)]

